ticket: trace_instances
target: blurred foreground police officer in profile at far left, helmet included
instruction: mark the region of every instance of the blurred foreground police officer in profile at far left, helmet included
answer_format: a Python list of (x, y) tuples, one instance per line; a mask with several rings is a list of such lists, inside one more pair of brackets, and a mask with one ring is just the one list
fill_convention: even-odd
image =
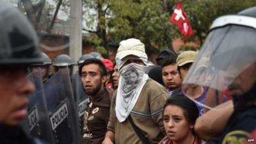
[(20, 127), (27, 115), (27, 95), (35, 91), (26, 70), (41, 61), (36, 32), (17, 8), (2, 0), (0, 29), (0, 143), (36, 143)]

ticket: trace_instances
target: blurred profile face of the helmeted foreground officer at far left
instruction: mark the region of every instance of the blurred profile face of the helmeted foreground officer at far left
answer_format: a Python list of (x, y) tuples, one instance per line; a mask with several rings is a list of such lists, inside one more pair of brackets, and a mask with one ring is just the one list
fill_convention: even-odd
[(0, 66), (0, 123), (19, 125), (26, 117), (28, 94), (35, 86), (26, 76), (26, 66)]

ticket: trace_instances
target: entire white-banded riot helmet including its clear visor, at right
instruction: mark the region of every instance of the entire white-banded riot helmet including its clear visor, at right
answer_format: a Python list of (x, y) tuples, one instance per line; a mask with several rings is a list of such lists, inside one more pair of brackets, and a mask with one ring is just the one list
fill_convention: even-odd
[[(182, 83), (185, 95), (189, 97), (189, 88), (197, 85), (215, 91), (213, 95), (207, 95), (205, 104), (200, 104), (211, 109), (214, 102), (207, 101), (209, 97), (227, 99), (225, 92), (241, 96), (250, 91), (253, 85), (255, 87), (255, 13), (256, 8), (250, 8), (239, 15), (223, 16), (213, 22), (204, 45)], [(219, 92), (224, 94), (220, 95)]]

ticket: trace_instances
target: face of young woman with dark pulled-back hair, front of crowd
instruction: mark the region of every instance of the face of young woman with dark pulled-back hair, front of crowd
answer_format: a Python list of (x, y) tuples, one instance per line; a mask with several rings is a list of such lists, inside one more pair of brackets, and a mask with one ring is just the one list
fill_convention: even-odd
[(194, 125), (189, 124), (179, 106), (169, 105), (164, 108), (164, 129), (170, 140), (176, 143), (182, 141), (193, 131)]

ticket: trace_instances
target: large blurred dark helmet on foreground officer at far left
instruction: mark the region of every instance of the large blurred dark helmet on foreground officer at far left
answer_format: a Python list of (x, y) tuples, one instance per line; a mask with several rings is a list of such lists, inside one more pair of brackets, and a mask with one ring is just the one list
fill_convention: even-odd
[(38, 37), (17, 8), (0, 1), (0, 65), (38, 63)]

